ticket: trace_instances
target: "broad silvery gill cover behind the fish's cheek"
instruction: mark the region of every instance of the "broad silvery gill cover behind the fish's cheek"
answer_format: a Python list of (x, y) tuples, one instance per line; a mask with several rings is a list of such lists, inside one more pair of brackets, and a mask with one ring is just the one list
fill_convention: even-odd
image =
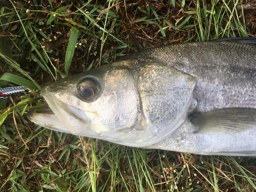
[(169, 137), (185, 121), (197, 79), (159, 63), (138, 67), (133, 74), (143, 127), (143, 139), (136, 146), (150, 146)]

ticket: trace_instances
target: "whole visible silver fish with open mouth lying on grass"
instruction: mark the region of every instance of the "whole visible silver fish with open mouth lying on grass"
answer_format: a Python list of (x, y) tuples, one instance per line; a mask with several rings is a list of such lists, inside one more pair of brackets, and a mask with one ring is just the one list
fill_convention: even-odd
[(201, 155), (256, 155), (256, 40), (148, 48), (47, 84), (48, 129)]

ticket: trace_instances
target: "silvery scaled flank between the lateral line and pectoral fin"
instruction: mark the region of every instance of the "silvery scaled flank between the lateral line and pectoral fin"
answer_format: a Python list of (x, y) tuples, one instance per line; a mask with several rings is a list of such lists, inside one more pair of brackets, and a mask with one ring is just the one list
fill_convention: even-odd
[(199, 82), (193, 97), (197, 112), (222, 108), (256, 108), (256, 70), (238, 66), (209, 66), (182, 69)]

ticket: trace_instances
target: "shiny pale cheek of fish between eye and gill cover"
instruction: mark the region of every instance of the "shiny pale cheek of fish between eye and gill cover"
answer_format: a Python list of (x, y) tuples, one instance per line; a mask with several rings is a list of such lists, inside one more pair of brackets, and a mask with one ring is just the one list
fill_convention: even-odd
[(91, 106), (98, 114), (92, 126), (104, 127), (103, 130), (109, 132), (130, 129), (141, 120), (139, 96), (134, 79), (126, 69), (106, 73), (104, 90)]

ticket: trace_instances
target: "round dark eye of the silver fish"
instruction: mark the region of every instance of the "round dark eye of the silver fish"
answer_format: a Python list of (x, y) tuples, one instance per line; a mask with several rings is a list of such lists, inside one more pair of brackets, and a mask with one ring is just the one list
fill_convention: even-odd
[(96, 79), (84, 78), (78, 83), (77, 90), (83, 99), (93, 100), (99, 95), (100, 85)]

